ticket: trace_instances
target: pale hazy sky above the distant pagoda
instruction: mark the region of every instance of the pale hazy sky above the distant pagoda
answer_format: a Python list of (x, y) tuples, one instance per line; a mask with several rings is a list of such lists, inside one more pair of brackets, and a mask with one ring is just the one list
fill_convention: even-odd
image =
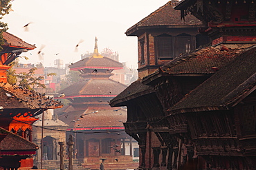
[[(42, 45), (45, 66), (53, 67), (55, 59), (75, 63), (81, 54), (93, 52), (97, 36), (99, 52), (109, 47), (119, 53), (120, 62), (137, 67), (137, 37), (125, 32), (165, 3), (167, 0), (15, 0), (14, 11), (3, 21), (8, 23), (8, 32), (37, 46), (22, 54), (29, 60), (21, 63), (39, 63), (37, 52)], [(30, 22), (26, 32), (23, 27)], [(75, 52), (81, 39), (84, 42)]]

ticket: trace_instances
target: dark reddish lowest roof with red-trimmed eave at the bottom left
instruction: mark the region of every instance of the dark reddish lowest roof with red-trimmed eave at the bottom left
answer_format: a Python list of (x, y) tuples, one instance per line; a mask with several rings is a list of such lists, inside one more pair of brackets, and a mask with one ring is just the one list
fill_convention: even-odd
[(1, 156), (35, 154), (37, 145), (0, 127)]

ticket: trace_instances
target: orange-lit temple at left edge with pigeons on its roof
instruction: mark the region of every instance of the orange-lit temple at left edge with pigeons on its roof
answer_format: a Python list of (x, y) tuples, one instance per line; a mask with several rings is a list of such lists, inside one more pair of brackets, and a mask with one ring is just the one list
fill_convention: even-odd
[(40, 147), (31, 142), (32, 124), (37, 120), (35, 116), (47, 109), (60, 108), (62, 104), (34, 90), (7, 83), (9, 64), (21, 52), (33, 50), (35, 46), (8, 32), (3, 32), (3, 40), (0, 52), (0, 167), (32, 168), (33, 158), (30, 157)]

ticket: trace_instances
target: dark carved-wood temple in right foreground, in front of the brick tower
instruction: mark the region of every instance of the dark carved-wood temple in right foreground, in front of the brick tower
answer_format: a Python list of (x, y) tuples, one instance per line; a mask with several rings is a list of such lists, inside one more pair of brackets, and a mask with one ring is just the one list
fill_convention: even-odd
[(174, 9), (182, 21), (200, 19), (211, 42), (111, 100), (128, 108), (139, 169), (256, 169), (255, 1), (183, 0)]

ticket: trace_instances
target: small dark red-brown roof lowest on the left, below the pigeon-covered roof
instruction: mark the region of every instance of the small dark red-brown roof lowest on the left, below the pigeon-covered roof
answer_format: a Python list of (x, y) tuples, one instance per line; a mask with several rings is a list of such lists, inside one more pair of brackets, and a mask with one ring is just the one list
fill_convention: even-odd
[(37, 150), (37, 145), (0, 127), (0, 148), (4, 150)]

